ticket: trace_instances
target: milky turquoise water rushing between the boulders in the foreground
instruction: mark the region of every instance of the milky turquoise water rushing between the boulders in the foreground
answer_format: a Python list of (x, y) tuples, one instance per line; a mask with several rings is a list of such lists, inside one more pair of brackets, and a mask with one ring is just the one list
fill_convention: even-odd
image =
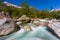
[(30, 27), (32, 31), (21, 29), (11, 35), (1, 37), (0, 40), (59, 40), (47, 30), (47, 27), (33, 27), (33, 25)]

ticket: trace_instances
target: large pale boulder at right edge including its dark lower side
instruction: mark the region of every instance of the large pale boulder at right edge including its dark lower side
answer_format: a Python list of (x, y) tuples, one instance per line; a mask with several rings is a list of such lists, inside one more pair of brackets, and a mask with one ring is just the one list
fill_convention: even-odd
[(47, 28), (60, 39), (60, 22), (58, 20), (51, 20)]

